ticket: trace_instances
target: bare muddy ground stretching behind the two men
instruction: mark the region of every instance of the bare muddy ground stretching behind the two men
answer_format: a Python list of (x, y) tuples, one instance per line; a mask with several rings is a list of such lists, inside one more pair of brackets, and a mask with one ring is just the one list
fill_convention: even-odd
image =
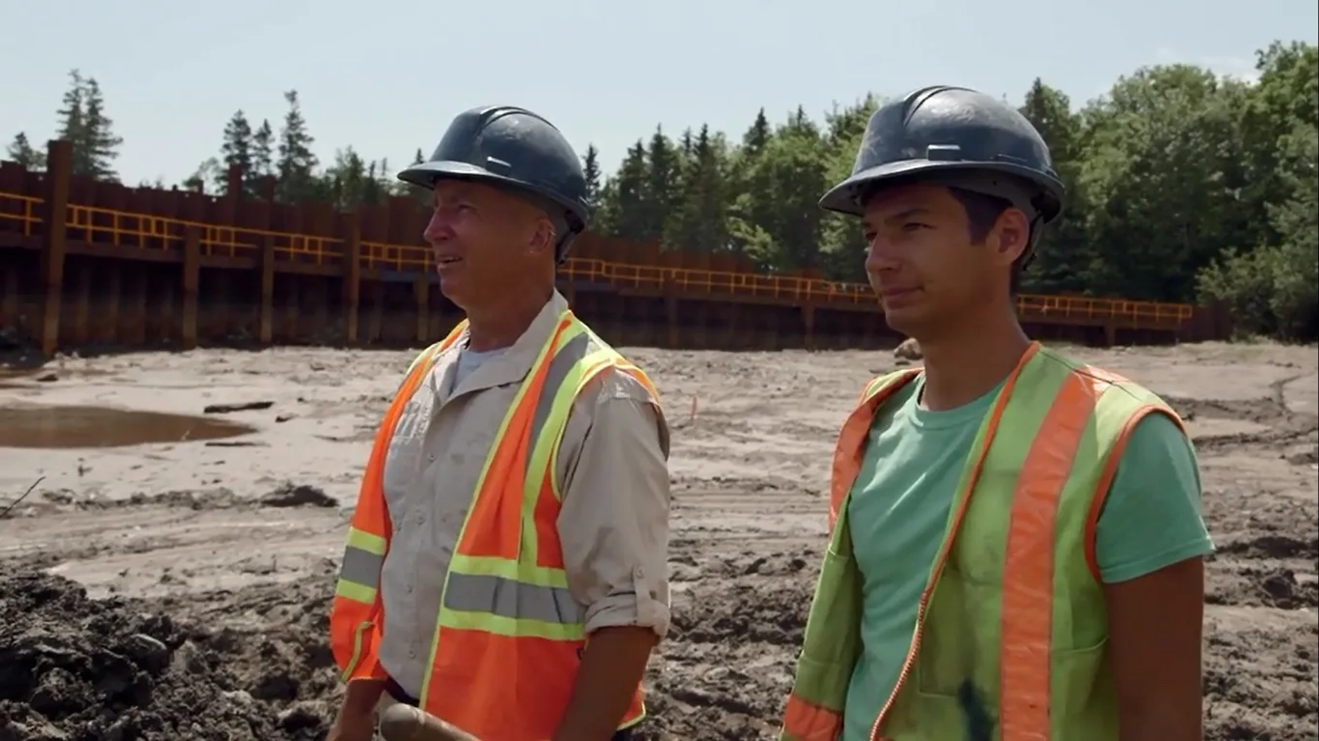
[[(1315, 349), (1076, 353), (1190, 419), (1219, 546), (1206, 737), (1319, 737)], [(674, 427), (674, 629), (650, 670), (645, 738), (772, 738), (824, 545), (834, 435), (892, 357), (629, 355)], [(323, 737), (335, 563), (409, 360), (194, 351), (0, 376), (0, 436), (141, 443), (0, 447), (0, 512), (44, 477), (0, 516), (0, 741)], [(248, 402), (272, 403), (202, 414)], [(203, 421), (164, 417), (177, 414)]]

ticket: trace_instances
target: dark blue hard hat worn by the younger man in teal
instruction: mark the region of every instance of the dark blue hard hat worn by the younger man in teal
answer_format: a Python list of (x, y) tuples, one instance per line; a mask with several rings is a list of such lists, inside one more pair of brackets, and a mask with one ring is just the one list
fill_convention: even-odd
[(1031, 223), (1063, 207), (1063, 183), (1035, 127), (1010, 105), (964, 87), (934, 86), (886, 103), (865, 127), (852, 175), (820, 207), (861, 215), (886, 185), (938, 182), (1012, 202)]

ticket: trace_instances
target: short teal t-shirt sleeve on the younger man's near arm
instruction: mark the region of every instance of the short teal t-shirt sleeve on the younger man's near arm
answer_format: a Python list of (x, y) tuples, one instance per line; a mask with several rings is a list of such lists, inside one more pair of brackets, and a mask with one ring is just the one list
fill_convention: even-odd
[(1213, 552), (1200, 508), (1195, 448), (1166, 414), (1136, 423), (1095, 526), (1105, 584)]

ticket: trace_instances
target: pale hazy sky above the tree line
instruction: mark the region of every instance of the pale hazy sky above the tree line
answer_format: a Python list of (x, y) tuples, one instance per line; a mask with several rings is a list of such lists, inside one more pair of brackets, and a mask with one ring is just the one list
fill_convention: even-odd
[[(484, 8), (481, 5), (485, 5)], [(964, 84), (1074, 104), (1120, 74), (1194, 62), (1250, 74), (1274, 38), (1316, 41), (1315, 0), (0, 0), (0, 138), (40, 145), (77, 67), (124, 137), (124, 182), (177, 182), (241, 108), (278, 124), (298, 90), (327, 161), (406, 163), (458, 112), (506, 103), (612, 171), (656, 124), (733, 134), (765, 107), (814, 116), (867, 91)]]

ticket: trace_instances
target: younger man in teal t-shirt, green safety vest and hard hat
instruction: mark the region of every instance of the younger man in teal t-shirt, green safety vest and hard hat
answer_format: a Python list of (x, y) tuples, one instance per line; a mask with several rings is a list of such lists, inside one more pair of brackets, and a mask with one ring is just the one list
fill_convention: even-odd
[[(1195, 452), (1157, 397), (1038, 348), (1017, 320), (1017, 277), (1062, 210), (1039, 134), (989, 96), (923, 88), (874, 113), (853, 175), (820, 204), (861, 218), (885, 319), (919, 343), (925, 368), (872, 384), (885, 390), (849, 421), (860, 427), (851, 448), (844, 429), (838, 522), (782, 737), (1199, 740), (1213, 546)], [(1088, 389), (1087, 425), (1063, 423), (1082, 396), (1055, 401), (1055, 388)], [(1014, 411), (1031, 403), (1035, 418)], [(1013, 460), (1009, 438), (1030, 443), (1017, 469), (996, 464)], [(1034, 456), (1066, 439), (1079, 440), (1071, 456)], [(853, 461), (842, 480), (839, 460)], [(1017, 533), (1031, 526), (1018, 508), (1033, 504), (1021, 502), (1041, 490), (1057, 517), (1042, 551)], [(1009, 609), (1014, 575), (1031, 570), (1017, 551), (1051, 558), (1054, 571), (1038, 600)], [(1043, 618), (1020, 609), (1031, 603)], [(1009, 645), (1041, 620), (1043, 658)], [(1087, 651), (1089, 663), (1071, 659)], [(1045, 678), (1014, 676), (1018, 658)], [(959, 666), (964, 675), (940, 668)], [(1031, 682), (1038, 696), (1013, 694)]]

